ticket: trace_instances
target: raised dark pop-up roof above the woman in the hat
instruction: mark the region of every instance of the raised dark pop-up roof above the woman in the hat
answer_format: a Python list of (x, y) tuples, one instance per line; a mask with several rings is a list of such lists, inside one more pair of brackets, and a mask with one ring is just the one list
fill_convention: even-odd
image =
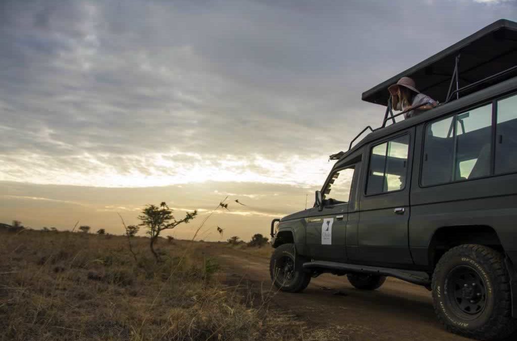
[[(415, 80), (420, 92), (445, 102), (454, 71), (455, 58), (458, 55), (460, 55), (459, 87), (517, 65), (517, 23), (504, 19), (498, 20), (397, 76), (372, 87), (362, 94), (362, 99), (386, 106), (389, 98), (388, 86), (397, 83), (401, 77), (407, 76)], [(483, 87), (516, 74), (517, 72), (513, 71), (506, 73), (490, 83), (483, 83)], [(455, 83), (452, 90), (455, 90)], [(471, 88), (469, 92), (476, 90), (479, 90), (479, 87)], [(462, 95), (464, 94), (460, 96)]]

